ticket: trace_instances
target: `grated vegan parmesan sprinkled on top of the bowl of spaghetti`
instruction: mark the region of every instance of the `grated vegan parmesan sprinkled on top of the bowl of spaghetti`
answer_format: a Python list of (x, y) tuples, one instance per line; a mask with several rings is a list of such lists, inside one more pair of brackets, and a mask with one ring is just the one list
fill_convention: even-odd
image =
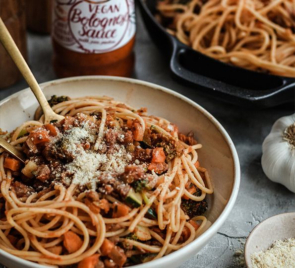
[[(120, 136), (121, 139), (124, 135)], [(98, 177), (104, 173), (122, 173), (124, 167), (129, 164), (132, 156), (126, 151), (124, 145), (114, 144), (112, 152), (99, 153), (96, 150), (85, 150), (79, 146), (81, 142), (94, 143), (97, 140), (95, 129), (83, 124), (82, 127), (73, 127), (64, 134), (52, 140), (55, 146), (61, 146), (69, 152), (73, 160), (64, 165), (67, 177), (64, 178), (68, 184), (87, 185), (89, 189), (95, 190)], [(105, 143), (100, 140), (99, 145)], [(101, 146), (99, 146), (101, 147)], [(58, 170), (55, 170), (56, 177), (60, 177)]]

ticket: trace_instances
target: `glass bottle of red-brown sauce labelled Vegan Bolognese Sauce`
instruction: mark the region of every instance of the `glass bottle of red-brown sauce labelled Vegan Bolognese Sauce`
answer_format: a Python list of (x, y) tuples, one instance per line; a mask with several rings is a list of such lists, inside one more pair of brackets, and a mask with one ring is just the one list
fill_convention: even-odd
[(54, 0), (52, 39), (59, 77), (130, 76), (134, 0)]

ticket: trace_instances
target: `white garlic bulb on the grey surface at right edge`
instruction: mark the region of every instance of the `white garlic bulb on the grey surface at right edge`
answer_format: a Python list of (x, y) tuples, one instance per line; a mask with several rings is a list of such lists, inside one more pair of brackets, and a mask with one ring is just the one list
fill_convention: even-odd
[(295, 114), (278, 119), (262, 144), (262, 169), (295, 193)]

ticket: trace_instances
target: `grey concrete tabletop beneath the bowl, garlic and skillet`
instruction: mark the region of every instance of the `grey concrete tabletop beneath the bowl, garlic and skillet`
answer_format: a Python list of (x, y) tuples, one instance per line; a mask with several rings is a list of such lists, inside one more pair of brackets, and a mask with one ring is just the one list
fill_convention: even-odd
[[(263, 219), (283, 212), (295, 211), (295, 194), (275, 184), (264, 175), (260, 159), (261, 144), (279, 117), (294, 113), (294, 106), (282, 105), (263, 110), (249, 110), (203, 96), (171, 78), (168, 64), (152, 43), (137, 13), (134, 77), (157, 83), (199, 103), (225, 127), (232, 137), (240, 159), (241, 183), (235, 207), (223, 227), (206, 247), (181, 268), (235, 268), (239, 264), (243, 244), (253, 227)], [(39, 82), (57, 78), (51, 58), (49, 36), (28, 34), (29, 65)], [(25, 81), (0, 90), (0, 99), (27, 87)], [(0, 266), (2, 268), (2, 266)]]

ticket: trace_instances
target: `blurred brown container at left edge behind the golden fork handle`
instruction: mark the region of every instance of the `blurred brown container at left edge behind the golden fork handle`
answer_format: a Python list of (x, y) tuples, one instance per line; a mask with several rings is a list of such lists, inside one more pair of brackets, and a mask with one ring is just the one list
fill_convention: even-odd
[[(0, 17), (27, 58), (25, 0), (0, 0)], [(0, 44), (0, 88), (16, 83), (22, 77), (10, 56)]]

